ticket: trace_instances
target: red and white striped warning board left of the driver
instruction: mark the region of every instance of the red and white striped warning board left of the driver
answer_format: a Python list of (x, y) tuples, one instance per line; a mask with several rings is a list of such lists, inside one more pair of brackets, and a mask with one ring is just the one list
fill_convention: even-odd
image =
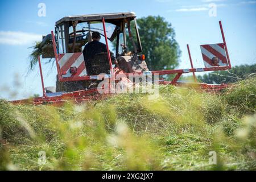
[[(62, 53), (58, 57), (60, 74), (62, 77), (86, 76), (84, 55), (79, 53)], [(70, 68), (75, 68), (76, 73), (71, 73)]]

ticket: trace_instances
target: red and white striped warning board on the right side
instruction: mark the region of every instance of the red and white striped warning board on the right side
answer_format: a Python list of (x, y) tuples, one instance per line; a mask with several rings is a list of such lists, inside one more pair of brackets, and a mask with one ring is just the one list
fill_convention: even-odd
[(201, 45), (205, 67), (227, 66), (228, 59), (224, 44), (207, 44)]

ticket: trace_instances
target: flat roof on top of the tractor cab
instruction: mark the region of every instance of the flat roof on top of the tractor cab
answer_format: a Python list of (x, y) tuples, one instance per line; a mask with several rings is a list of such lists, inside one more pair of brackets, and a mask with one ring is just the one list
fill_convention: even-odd
[(56, 22), (56, 26), (62, 24), (64, 22), (89, 22), (89, 21), (97, 21), (105, 18), (108, 22), (111, 20), (118, 20), (124, 18), (135, 18), (136, 15), (134, 12), (126, 12), (126, 13), (105, 13), (105, 14), (90, 14), (90, 15), (75, 15), (75, 16), (65, 16)]

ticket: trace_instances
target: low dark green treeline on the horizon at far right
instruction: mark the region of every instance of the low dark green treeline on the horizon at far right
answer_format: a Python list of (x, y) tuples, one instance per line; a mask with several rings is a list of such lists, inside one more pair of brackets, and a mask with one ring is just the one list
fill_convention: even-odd
[(222, 84), (243, 80), (251, 73), (256, 73), (256, 64), (236, 66), (230, 71), (214, 71), (203, 76), (197, 76), (197, 78), (208, 84)]

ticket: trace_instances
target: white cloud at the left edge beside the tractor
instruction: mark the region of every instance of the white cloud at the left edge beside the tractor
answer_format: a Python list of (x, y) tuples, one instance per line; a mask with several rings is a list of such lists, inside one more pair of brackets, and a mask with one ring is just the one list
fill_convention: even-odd
[(0, 31), (0, 44), (12, 46), (28, 45), (42, 40), (42, 35), (21, 31)]

